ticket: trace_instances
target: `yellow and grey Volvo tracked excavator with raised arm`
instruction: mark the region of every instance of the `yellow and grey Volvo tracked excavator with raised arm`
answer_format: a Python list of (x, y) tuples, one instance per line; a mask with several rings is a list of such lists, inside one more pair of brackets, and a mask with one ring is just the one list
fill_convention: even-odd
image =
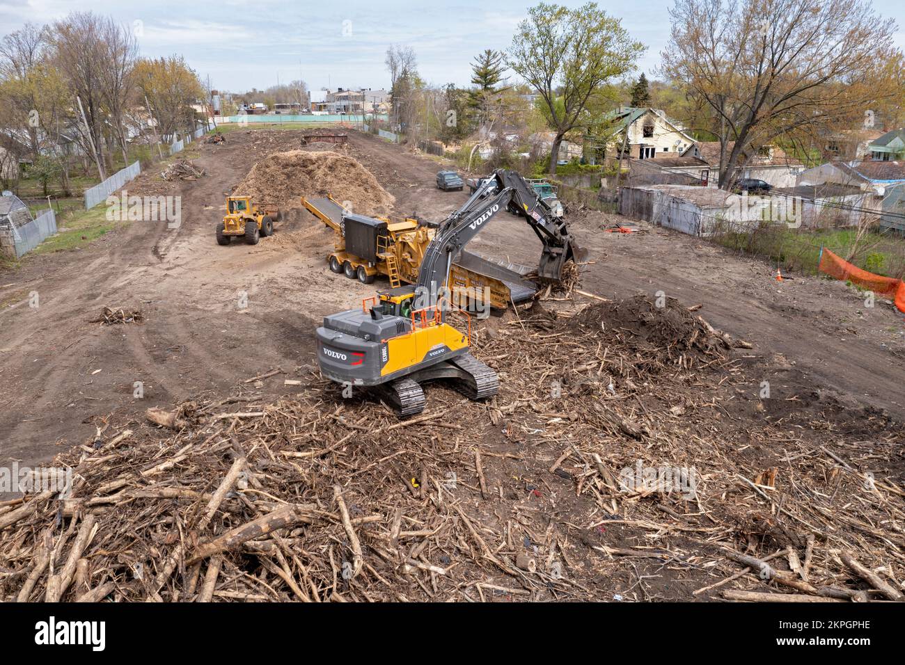
[[(497, 375), (469, 353), (471, 319), (452, 306), (446, 285), (456, 255), (504, 209), (523, 216), (542, 242), (539, 276), (560, 280), (576, 253), (566, 223), (522, 176), (500, 169), (437, 229), (414, 284), (324, 318), (317, 330), (321, 374), (380, 391), (403, 416), (424, 410), (421, 384), (435, 379), (452, 379), (474, 400), (496, 394)], [(459, 314), (464, 330), (451, 324)]]

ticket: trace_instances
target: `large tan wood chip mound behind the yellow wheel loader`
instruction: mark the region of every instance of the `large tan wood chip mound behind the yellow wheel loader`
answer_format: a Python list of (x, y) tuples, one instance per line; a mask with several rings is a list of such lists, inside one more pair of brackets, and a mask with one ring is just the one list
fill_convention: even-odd
[(234, 195), (250, 195), (281, 208), (300, 206), (301, 196), (333, 195), (348, 201), (358, 214), (387, 214), (395, 199), (370, 171), (352, 157), (336, 152), (291, 150), (258, 162), (235, 187)]

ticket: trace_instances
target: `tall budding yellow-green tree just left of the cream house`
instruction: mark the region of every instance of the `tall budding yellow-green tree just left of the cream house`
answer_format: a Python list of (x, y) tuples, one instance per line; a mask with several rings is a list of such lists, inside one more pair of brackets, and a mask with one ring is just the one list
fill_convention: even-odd
[(541, 3), (529, 10), (529, 18), (519, 24), (512, 39), (509, 63), (538, 91), (548, 109), (555, 131), (550, 175), (556, 173), (563, 138), (584, 117), (595, 92), (632, 71), (643, 50), (618, 19), (594, 2), (578, 9)]

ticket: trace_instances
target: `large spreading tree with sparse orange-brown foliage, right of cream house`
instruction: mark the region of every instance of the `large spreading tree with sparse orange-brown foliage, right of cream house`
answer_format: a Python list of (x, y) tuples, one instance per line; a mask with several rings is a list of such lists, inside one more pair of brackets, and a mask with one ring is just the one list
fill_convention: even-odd
[(857, 126), (892, 93), (895, 24), (861, 0), (677, 0), (670, 14), (662, 70), (715, 116), (721, 188), (744, 155)]

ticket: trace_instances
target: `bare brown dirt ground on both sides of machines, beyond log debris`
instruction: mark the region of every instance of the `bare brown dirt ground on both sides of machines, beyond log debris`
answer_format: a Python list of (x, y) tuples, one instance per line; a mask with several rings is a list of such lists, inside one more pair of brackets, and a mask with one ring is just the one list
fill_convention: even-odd
[[(133, 222), (88, 249), (35, 257), (0, 275), (0, 461), (46, 460), (59, 446), (89, 442), (111, 417), (121, 422), (148, 406), (229, 394), (236, 383), (276, 368), (285, 375), (264, 380), (261, 394), (290, 391), (283, 378), (312, 362), (319, 318), (354, 306), (373, 286), (328, 271), (332, 236), (308, 214), (290, 214), (276, 235), (253, 247), (218, 247), (214, 222), (224, 194), (258, 159), (297, 147), (297, 132), (268, 130), (201, 145), (195, 162), (208, 176), (165, 183), (155, 171), (128, 187), (180, 195), (177, 229)], [(433, 186), (436, 161), (382, 139), (353, 132), (349, 149), (395, 195), (395, 214), (437, 221), (467, 197)], [(795, 276), (779, 285), (766, 264), (678, 233), (603, 233), (607, 221), (588, 214), (572, 223), (590, 252), (586, 290), (607, 297), (662, 290), (686, 305), (702, 304), (705, 318), (754, 343), (752, 354), (765, 356), (784, 381), (794, 366), (814, 390), (905, 417), (898, 313), (884, 305), (865, 309), (841, 283)], [(527, 225), (508, 215), (471, 249), (525, 264), (539, 254)], [(29, 306), (32, 292), (37, 308)], [(141, 309), (146, 322), (91, 323), (104, 306)]]

